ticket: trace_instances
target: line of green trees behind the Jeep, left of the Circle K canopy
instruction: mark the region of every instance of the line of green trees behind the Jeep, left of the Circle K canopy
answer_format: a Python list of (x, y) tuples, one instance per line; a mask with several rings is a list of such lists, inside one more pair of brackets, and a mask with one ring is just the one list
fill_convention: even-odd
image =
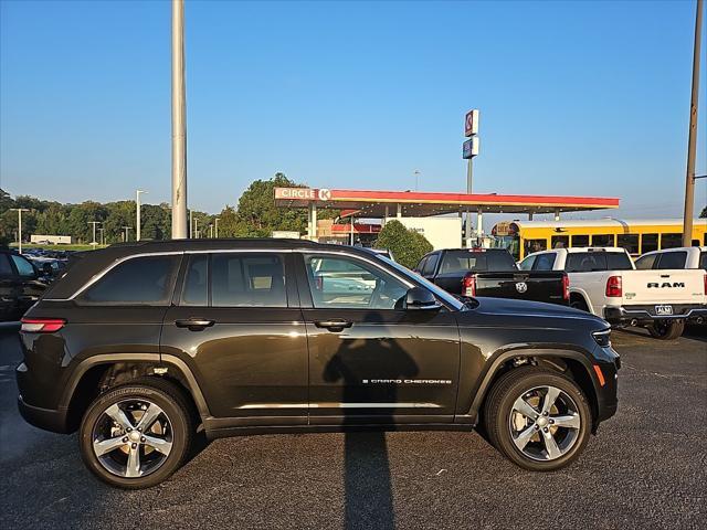
[[(215, 236), (217, 219), (219, 237), (267, 237), (274, 230), (296, 231), (304, 233), (307, 227), (305, 209), (287, 209), (275, 206), (275, 188), (306, 187), (289, 180), (284, 173), (275, 173), (267, 180), (256, 180), (243, 192), (238, 205), (226, 204), (219, 213), (191, 210), (191, 219), (196, 226), (194, 236)], [(84, 201), (78, 204), (60, 203), (38, 199), (30, 195), (12, 198), (0, 189), (0, 243), (17, 241), (18, 213), (13, 209), (27, 209), (22, 212), (22, 239), (29, 241), (32, 234), (71, 235), (77, 244), (93, 241), (93, 227), (103, 229), (106, 244), (135, 241), (136, 203), (135, 201), (95, 202)], [(335, 210), (318, 212), (319, 219), (333, 219), (338, 215)], [(168, 203), (140, 206), (140, 232), (143, 240), (167, 240), (171, 235), (171, 210)], [(210, 225), (213, 229), (210, 230)], [(126, 226), (128, 230), (126, 231)], [(96, 241), (101, 242), (99, 231)]]

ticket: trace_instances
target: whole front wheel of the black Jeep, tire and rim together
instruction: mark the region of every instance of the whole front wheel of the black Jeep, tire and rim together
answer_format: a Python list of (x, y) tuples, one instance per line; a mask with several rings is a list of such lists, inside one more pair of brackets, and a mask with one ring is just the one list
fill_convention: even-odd
[(587, 445), (592, 420), (574, 381), (535, 367), (500, 378), (486, 400), (484, 417), (490, 443), (532, 471), (572, 463)]

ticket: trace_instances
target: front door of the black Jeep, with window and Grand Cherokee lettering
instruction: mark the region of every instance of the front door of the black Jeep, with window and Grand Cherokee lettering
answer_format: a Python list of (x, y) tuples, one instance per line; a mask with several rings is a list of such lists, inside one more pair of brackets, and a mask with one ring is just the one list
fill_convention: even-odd
[(374, 262), (303, 256), (312, 424), (452, 418), (460, 338), (445, 309), (404, 309), (409, 288)]

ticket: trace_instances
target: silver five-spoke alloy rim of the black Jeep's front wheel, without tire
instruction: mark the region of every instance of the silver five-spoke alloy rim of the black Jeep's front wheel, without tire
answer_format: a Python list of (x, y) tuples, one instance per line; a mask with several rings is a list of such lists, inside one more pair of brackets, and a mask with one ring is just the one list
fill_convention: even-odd
[(508, 428), (513, 443), (534, 460), (556, 460), (579, 439), (581, 416), (570, 395), (556, 386), (536, 386), (513, 404)]

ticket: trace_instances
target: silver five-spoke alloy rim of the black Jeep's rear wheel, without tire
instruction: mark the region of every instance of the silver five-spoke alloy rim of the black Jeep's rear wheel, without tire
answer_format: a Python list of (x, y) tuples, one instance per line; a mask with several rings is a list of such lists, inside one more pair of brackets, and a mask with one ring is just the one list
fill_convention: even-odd
[(171, 421), (156, 403), (128, 399), (109, 405), (93, 427), (93, 452), (113, 475), (145, 477), (156, 471), (172, 449)]

